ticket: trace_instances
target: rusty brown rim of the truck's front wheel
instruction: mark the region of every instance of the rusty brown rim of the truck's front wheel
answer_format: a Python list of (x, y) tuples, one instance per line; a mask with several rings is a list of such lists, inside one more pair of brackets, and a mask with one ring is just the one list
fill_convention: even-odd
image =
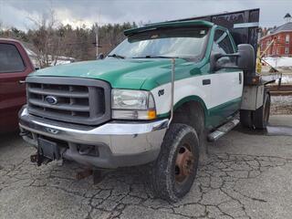
[(183, 144), (179, 148), (175, 161), (175, 182), (183, 183), (193, 172), (194, 156), (190, 146)]

